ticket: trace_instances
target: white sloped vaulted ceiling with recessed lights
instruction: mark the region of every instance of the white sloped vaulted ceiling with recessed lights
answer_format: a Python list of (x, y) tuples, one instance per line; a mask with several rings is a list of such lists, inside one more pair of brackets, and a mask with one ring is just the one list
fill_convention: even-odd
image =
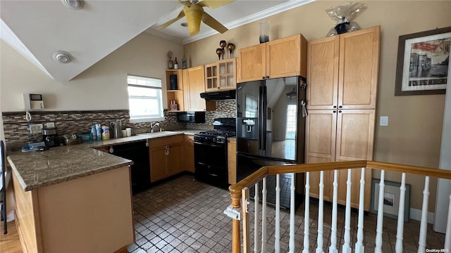
[[(73, 79), (142, 32), (180, 44), (217, 33), (202, 24), (199, 34), (190, 37), (181, 25), (186, 18), (159, 30), (159, 25), (182, 10), (177, 1), (85, 0), (79, 10), (69, 8), (65, 1), (0, 1), (1, 39), (59, 82)], [(311, 1), (314, 0), (237, 0), (204, 10), (230, 30)], [(56, 61), (58, 51), (68, 52), (70, 62)]]

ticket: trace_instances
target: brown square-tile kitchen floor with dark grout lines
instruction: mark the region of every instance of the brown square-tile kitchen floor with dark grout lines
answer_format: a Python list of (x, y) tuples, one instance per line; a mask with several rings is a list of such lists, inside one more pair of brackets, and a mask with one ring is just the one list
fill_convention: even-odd
[[(206, 183), (194, 181), (194, 176), (183, 175), (161, 183), (133, 196), (135, 209), (135, 243), (128, 252), (231, 252), (231, 219), (223, 214), (230, 205), (228, 191)], [(253, 202), (251, 209), (253, 209)], [(310, 247), (316, 249), (317, 202), (311, 201)], [(330, 245), (331, 208), (325, 203), (323, 249)], [(253, 210), (252, 210), (253, 211)], [(274, 208), (268, 206), (268, 252), (274, 249)], [(345, 210), (338, 208), (338, 249), (344, 235)], [(295, 252), (302, 252), (304, 240), (304, 204), (296, 212)], [(280, 214), (281, 252), (288, 251), (289, 219), (286, 211)], [(364, 223), (364, 246), (373, 252), (376, 237), (376, 215), (366, 214)], [(251, 221), (253, 228), (253, 220)], [(261, 222), (261, 221), (260, 221)], [(395, 252), (397, 221), (384, 218), (383, 252)], [(357, 212), (352, 212), (351, 245), (357, 240)], [(419, 240), (419, 221), (404, 223), (404, 252), (416, 252)], [(252, 234), (254, 233), (252, 229)], [(427, 248), (442, 249), (445, 235), (435, 233), (428, 225)], [(252, 235), (253, 236), (253, 235)]]

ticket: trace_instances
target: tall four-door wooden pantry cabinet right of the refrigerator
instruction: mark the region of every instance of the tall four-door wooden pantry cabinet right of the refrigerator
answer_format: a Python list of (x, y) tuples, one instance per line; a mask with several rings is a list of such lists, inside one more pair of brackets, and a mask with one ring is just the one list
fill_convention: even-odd
[[(307, 53), (306, 162), (372, 160), (379, 61), (379, 27), (309, 41)], [(371, 169), (365, 170), (369, 211)], [(310, 194), (319, 197), (319, 172)], [(360, 170), (351, 174), (351, 206), (358, 208)], [(333, 171), (324, 171), (324, 200), (332, 201)], [(346, 202), (347, 171), (338, 174), (338, 203)]]

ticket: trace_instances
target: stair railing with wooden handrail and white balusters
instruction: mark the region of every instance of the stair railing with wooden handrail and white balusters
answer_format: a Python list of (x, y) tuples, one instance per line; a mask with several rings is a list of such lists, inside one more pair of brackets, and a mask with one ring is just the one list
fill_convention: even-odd
[[(229, 187), (230, 197), (232, 204), (224, 211), (225, 214), (233, 218), (233, 235), (232, 235), (232, 252), (251, 252), (252, 238), (250, 233), (250, 218), (249, 218), (249, 188), (255, 186), (255, 189), (259, 189), (259, 182), (263, 183), (262, 201), (261, 201), (261, 233), (259, 232), (259, 193), (255, 190), (254, 196), (254, 240), (253, 252), (267, 252), (267, 233), (266, 233), (266, 217), (268, 215), (266, 209), (266, 176), (276, 175), (276, 211), (275, 211), (275, 241), (274, 252), (280, 252), (280, 186), (279, 175), (291, 174), (294, 178), (297, 173), (305, 173), (305, 203), (304, 203), (304, 242), (303, 253), (311, 252), (309, 245), (310, 236), (310, 205), (309, 205), (309, 193), (310, 193), (310, 180), (309, 174), (313, 171), (320, 172), (319, 182), (319, 216), (318, 216), (318, 231), (316, 236), (316, 250), (315, 252), (324, 252), (323, 245), (323, 171), (333, 171), (333, 201), (332, 201), (332, 224), (330, 226), (330, 245), (328, 252), (338, 252), (340, 246), (337, 245), (337, 193), (338, 193), (338, 171), (347, 169), (347, 183), (346, 183), (346, 205), (345, 205), (345, 234), (344, 243), (341, 245), (341, 252), (365, 252), (364, 247), (364, 186), (365, 183), (365, 169), (378, 169), (381, 171), (381, 180), (379, 183), (378, 194), (378, 214), (377, 214), (377, 227), (376, 227), (376, 240), (374, 248), (371, 252), (382, 252), (382, 233), (383, 233), (383, 193), (385, 187), (385, 171), (395, 171), (402, 174), (401, 186), (400, 186), (400, 202), (397, 218), (397, 236), (395, 252), (402, 252), (403, 245), (403, 228), (404, 228), (404, 200), (405, 200), (405, 177), (406, 174), (415, 174), (425, 176), (424, 191), (423, 191), (423, 205), (421, 212), (420, 222), (420, 234), (418, 252), (426, 252), (426, 226), (427, 226), (427, 213), (428, 213), (428, 195), (429, 195), (429, 177), (434, 176), (441, 179), (451, 179), (451, 171), (445, 169), (435, 169), (428, 167), (416, 167), (404, 164), (391, 164), (386, 162), (373, 162), (373, 161), (350, 161), (350, 162), (327, 162), (316, 164), (290, 164), (290, 165), (278, 165), (262, 167), (253, 174), (247, 176), (242, 181)], [(354, 247), (350, 243), (350, 216), (351, 216), (351, 171), (353, 169), (360, 169), (360, 187), (359, 187), (359, 208), (358, 208), (358, 223), (357, 223), (357, 242)], [(290, 186), (290, 238), (289, 238), (289, 252), (295, 252), (295, 183), (291, 181)], [(355, 194), (355, 193), (354, 193)], [(451, 195), (450, 206), (448, 210), (451, 210)], [(241, 226), (242, 221), (242, 228)], [(240, 233), (242, 229), (242, 237)], [(327, 240), (326, 240), (327, 241)], [(242, 242), (242, 243), (241, 243)], [(451, 250), (451, 212), (448, 212), (447, 227), (445, 234), (445, 247), (443, 250)], [(299, 249), (296, 249), (298, 252)], [(443, 252), (445, 252), (443, 251)]]

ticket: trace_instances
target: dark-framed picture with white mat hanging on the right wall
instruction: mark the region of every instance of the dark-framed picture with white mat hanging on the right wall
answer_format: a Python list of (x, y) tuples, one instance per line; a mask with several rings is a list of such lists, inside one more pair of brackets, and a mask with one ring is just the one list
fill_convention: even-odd
[(395, 96), (445, 93), (450, 47), (451, 27), (400, 36)]

